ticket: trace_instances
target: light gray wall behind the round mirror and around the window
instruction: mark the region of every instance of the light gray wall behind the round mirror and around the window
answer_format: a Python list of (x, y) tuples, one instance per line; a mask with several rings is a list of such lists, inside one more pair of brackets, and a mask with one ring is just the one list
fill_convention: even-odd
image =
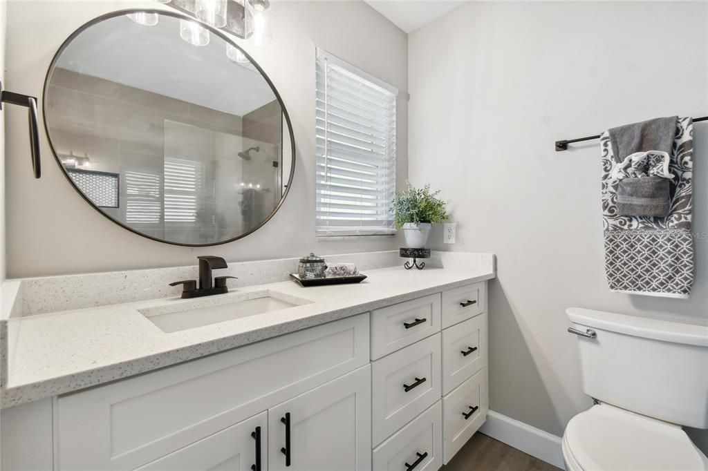
[[(408, 91), (407, 36), (361, 1), (273, 2), (273, 40), (245, 45), (282, 95), (293, 124), (295, 181), (280, 211), (244, 239), (214, 248), (183, 248), (141, 238), (105, 219), (65, 181), (42, 134), (44, 176), (33, 180), (24, 112), (6, 113), (7, 274), (32, 277), (166, 267), (195, 262), (196, 255), (227, 260), (292, 257), (311, 251), (390, 250), (394, 238), (318, 241), (314, 228), (315, 47)], [(130, 1), (11, 1), (8, 3), (6, 79), (18, 92), (40, 96), (52, 56), (80, 25)], [(160, 8), (156, 3), (150, 6)], [(164, 7), (166, 8), (166, 7)], [(33, 25), (28, 28), (27, 25)], [(41, 34), (38, 34), (38, 31)], [(399, 185), (407, 168), (405, 99), (398, 103)]]

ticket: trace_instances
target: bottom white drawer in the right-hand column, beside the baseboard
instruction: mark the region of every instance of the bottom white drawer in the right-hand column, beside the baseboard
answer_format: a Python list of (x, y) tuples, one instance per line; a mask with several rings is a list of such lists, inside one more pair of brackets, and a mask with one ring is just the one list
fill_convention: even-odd
[(487, 412), (487, 368), (442, 397), (442, 454), (446, 465), (484, 424)]

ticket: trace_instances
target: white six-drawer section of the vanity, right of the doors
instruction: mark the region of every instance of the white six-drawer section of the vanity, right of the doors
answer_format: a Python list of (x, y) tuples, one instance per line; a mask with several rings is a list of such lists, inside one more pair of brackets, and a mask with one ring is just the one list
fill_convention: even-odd
[(375, 470), (437, 470), (484, 424), (486, 324), (484, 281), (372, 311)]

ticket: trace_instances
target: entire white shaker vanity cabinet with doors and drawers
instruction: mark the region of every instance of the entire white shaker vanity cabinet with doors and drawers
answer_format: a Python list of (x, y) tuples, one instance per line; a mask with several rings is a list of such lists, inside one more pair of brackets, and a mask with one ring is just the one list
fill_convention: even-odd
[(4, 409), (4, 431), (28, 431), (8, 443), (45, 445), (43, 465), (26, 447), (3, 463), (436, 471), (486, 420), (486, 326), (481, 281)]

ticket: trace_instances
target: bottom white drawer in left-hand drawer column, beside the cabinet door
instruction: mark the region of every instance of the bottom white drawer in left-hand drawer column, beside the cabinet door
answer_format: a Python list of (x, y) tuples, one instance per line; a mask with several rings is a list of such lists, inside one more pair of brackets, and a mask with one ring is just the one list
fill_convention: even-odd
[(373, 458), (376, 471), (438, 471), (442, 467), (442, 402), (435, 402), (377, 446)]

